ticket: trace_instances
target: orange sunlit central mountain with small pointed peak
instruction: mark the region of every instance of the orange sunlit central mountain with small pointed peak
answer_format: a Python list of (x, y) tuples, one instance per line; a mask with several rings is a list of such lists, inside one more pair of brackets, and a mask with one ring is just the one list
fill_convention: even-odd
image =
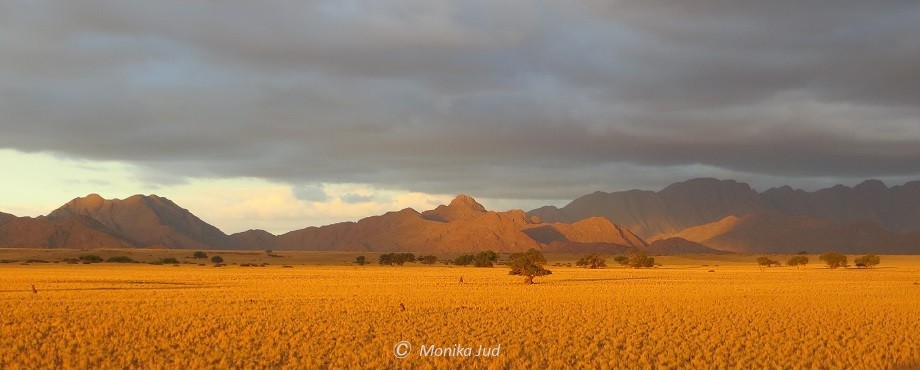
[(519, 252), (530, 248), (582, 253), (649, 247), (630, 230), (605, 218), (546, 223), (521, 210), (488, 211), (466, 195), (421, 213), (407, 208), (357, 222), (291, 231), (279, 235), (275, 245), (280, 250), (419, 253)]

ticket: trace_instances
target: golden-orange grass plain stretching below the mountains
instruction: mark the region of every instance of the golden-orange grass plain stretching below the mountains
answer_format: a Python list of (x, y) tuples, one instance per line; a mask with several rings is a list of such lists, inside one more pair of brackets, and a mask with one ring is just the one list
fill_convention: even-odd
[[(753, 256), (664, 256), (653, 269), (550, 267), (535, 285), (500, 266), (358, 267), (348, 253), (21, 262), (81, 253), (0, 250), (17, 261), (0, 264), (0, 368), (920, 366), (920, 256), (764, 271)], [(130, 253), (190, 255), (97, 254)], [(431, 345), (499, 351), (421, 356)]]

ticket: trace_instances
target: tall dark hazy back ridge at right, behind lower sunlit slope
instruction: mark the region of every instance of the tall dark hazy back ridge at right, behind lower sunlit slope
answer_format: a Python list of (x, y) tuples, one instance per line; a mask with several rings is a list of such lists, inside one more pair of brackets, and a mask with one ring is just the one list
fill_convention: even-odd
[(650, 238), (728, 216), (768, 211), (836, 223), (868, 221), (896, 233), (920, 231), (920, 182), (889, 188), (868, 180), (853, 188), (837, 185), (807, 192), (784, 186), (757, 193), (734, 180), (704, 178), (675, 183), (659, 192), (596, 192), (562, 208), (541, 207), (529, 214), (561, 222), (600, 216)]

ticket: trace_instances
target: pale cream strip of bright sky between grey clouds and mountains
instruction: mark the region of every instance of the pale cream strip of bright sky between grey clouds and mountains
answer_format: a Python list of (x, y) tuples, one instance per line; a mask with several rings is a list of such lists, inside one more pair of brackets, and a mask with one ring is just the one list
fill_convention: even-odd
[[(378, 189), (365, 184), (315, 184), (311, 189), (259, 178), (189, 179), (157, 185), (143, 181), (132, 165), (64, 158), (47, 153), (0, 149), (0, 163), (12, 176), (0, 179), (0, 212), (36, 217), (73, 198), (97, 193), (106, 199), (157, 194), (224, 232), (264, 229), (284, 233), (307, 226), (356, 221), (370, 215), (414, 208), (433, 209), (455, 195)], [(48, 169), (53, 169), (49, 171)], [(301, 187), (303, 188), (303, 187)], [(306, 191), (312, 194), (304, 194)], [(477, 199), (490, 209), (531, 209), (541, 201)]]

